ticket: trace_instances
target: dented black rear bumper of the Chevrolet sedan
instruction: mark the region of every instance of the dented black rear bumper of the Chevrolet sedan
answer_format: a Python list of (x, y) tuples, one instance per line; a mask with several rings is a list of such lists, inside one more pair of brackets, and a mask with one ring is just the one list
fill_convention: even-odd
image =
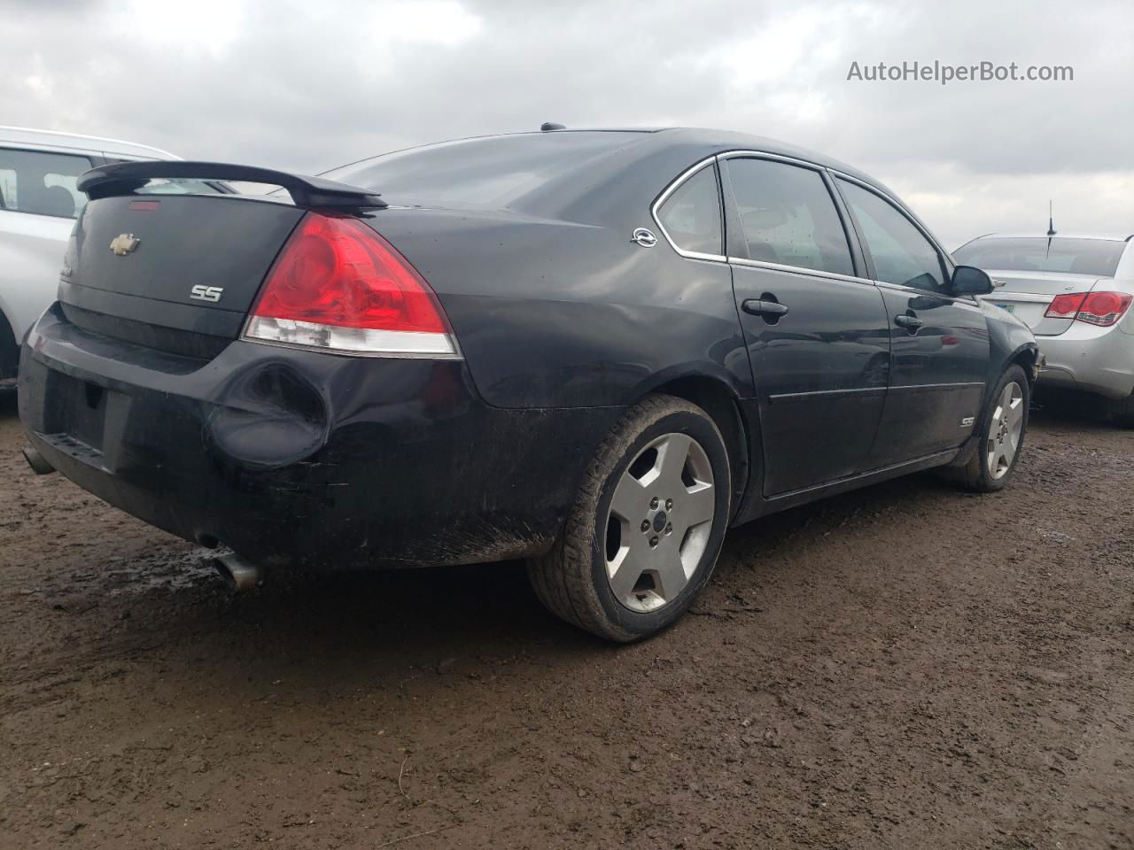
[(613, 408), (511, 410), (460, 360), (234, 341), (209, 360), (33, 329), (20, 417), (43, 458), (151, 525), (263, 566), (479, 563), (547, 551)]

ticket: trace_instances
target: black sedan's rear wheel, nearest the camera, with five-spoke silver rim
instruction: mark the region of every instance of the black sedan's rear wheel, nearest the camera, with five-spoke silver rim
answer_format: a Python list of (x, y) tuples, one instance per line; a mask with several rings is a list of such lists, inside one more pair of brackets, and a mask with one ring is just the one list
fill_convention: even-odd
[(587, 465), (555, 547), (528, 566), (540, 601), (608, 640), (672, 624), (712, 573), (731, 500), (728, 449), (712, 418), (652, 396)]

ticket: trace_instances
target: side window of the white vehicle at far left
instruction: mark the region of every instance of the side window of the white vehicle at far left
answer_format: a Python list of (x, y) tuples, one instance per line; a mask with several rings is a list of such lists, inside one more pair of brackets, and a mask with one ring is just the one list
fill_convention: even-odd
[(75, 188), (87, 156), (0, 147), (0, 209), (74, 219), (86, 201)]

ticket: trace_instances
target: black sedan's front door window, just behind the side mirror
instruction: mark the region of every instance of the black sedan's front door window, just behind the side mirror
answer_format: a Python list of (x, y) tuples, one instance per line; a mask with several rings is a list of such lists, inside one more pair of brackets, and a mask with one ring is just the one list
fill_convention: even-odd
[(941, 255), (894, 204), (839, 180), (839, 192), (862, 230), (878, 280), (948, 295)]

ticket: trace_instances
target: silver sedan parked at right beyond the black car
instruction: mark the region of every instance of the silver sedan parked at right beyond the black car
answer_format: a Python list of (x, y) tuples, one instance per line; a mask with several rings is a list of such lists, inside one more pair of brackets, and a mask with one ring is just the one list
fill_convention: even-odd
[(1032, 329), (1041, 386), (1101, 396), (1134, 427), (1134, 236), (990, 233), (953, 256), (988, 272), (983, 298)]

